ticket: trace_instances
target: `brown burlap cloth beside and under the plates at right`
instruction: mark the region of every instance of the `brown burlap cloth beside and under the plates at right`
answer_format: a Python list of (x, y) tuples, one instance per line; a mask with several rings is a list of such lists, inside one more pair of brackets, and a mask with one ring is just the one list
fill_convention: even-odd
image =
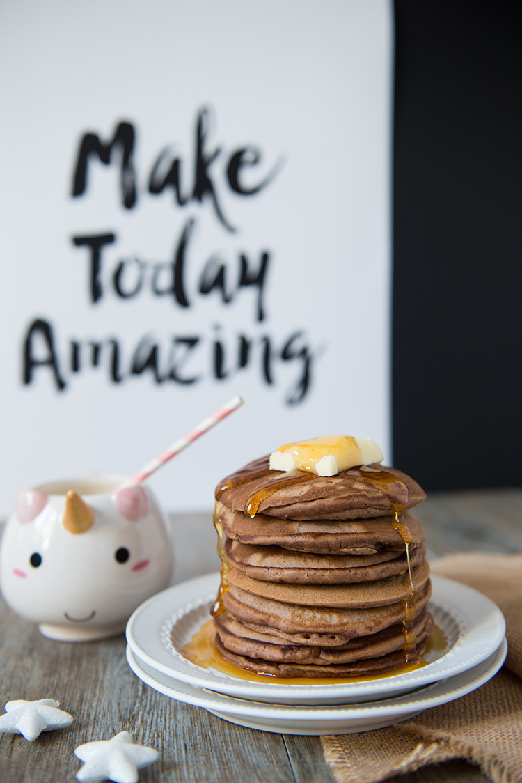
[(339, 783), (377, 783), (425, 764), (466, 759), (497, 783), (522, 781), (522, 555), (456, 554), (431, 565), (495, 601), (509, 652), (477, 691), (376, 731), (322, 737)]

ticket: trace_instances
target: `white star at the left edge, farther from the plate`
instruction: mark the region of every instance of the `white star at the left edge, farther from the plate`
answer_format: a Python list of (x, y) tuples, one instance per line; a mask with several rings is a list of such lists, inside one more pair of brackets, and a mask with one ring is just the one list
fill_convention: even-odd
[(53, 698), (40, 698), (36, 702), (16, 699), (7, 702), (5, 715), (0, 716), (0, 732), (4, 734), (23, 734), (32, 742), (42, 731), (52, 731), (70, 726), (73, 716), (57, 709), (59, 702)]

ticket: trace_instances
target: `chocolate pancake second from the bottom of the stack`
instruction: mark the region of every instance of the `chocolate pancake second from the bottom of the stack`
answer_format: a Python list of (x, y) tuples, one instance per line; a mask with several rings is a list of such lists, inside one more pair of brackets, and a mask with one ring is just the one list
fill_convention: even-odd
[[(317, 666), (332, 663), (351, 663), (360, 658), (377, 658), (404, 648), (401, 625), (391, 626), (380, 633), (358, 637), (337, 647), (318, 644), (283, 644), (272, 633), (252, 631), (229, 614), (223, 612), (215, 621), (221, 643), (231, 652), (260, 658), (265, 661), (313, 663)], [(417, 616), (413, 630), (417, 644), (421, 644), (434, 627), (431, 615), (424, 608)]]

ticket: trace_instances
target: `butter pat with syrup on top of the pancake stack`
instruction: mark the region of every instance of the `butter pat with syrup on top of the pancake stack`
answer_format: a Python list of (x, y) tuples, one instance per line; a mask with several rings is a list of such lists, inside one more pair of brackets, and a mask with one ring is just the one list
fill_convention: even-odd
[(270, 455), (272, 471), (310, 471), (318, 476), (335, 476), (356, 465), (380, 462), (383, 453), (369, 438), (331, 435), (301, 443), (279, 446)]

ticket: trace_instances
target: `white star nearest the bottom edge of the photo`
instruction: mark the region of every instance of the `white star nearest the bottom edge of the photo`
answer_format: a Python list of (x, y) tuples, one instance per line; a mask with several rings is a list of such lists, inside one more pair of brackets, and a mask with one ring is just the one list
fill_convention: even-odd
[(85, 762), (76, 777), (88, 783), (104, 780), (137, 783), (138, 770), (152, 764), (160, 755), (153, 748), (134, 745), (128, 731), (121, 731), (109, 740), (78, 745), (74, 754)]

